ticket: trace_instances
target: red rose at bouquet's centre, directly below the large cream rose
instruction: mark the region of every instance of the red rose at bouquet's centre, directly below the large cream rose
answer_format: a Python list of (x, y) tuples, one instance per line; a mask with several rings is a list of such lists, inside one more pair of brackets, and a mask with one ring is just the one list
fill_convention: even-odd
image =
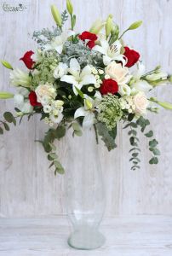
[(104, 79), (100, 86), (101, 95), (106, 95), (107, 93), (115, 94), (118, 92), (118, 83), (112, 79)]

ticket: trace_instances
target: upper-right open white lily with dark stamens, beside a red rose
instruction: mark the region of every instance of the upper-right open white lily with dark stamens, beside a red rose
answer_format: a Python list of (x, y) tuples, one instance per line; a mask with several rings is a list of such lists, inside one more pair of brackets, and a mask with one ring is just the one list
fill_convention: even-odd
[(111, 46), (106, 40), (100, 40), (100, 45), (95, 45), (95, 51), (99, 51), (103, 55), (103, 63), (107, 66), (111, 61), (122, 61), (123, 66), (126, 64), (126, 58), (121, 54), (122, 44), (119, 40), (115, 41)]

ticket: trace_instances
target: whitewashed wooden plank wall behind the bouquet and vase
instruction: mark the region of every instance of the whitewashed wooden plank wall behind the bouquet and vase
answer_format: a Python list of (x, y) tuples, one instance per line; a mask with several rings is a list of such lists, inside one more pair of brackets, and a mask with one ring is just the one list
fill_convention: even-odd
[[(2, 9), (3, 2), (23, 3), (27, 9), (10, 13)], [(140, 29), (125, 36), (127, 44), (135, 46), (151, 70), (159, 63), (172, 73), (172, 1), (171, 0), (73, 0), (77, 14), (77, 29), (86, 30), (98, 18), (111, 13), (125, 29), (135, 20), (144, 20)], [(20, 57), (34, 49), (32, 32), (52, 26), (51, 0), (0, 1), (0, 59), (14, 67), (24, 67)], [(54, 1), (59, 9), (66, 8), (65, 0)], [(0, 90), (9, 87), (9, 71), (0, 67)], [(172, 102), (172, 87), (158, 88), (155, 96)], [(0, 102), (0, 113), (13, 109), (13, 101)], [(118, 129), (118, 149), (108, 153), (100, 143), (98, 150), (106, 180), (106, 216), (116, 214), (172, 214), (172, 113), (152, 114), (152, 129), (157, 135), (162, 156), (158, 166), (149, 166), (150, 157), (145, 138), (140, 137), (142, 165), (140, 171), (129, 170), (129, 137)], [(46, 125), (34, 118), (0, 137), (0, 216), (34, 216), (65, 213), (65, 176), (54, 177), (48, 170), (49, 162), (41, 145)], [(89, 131), (83, 138), (67, 137), (59, 143), (62, 163), (70, 168), (72, 161), (81, 161), (81, 154), (95, 150), (94, 134)], [(88, 143), (90, 141), (90, 146)], [(84, 143), (86, 142), (87, 143)], [(88, 145), (85, 147), (85, 144)], [(78, 154), (80, 152), (80, 154)]]

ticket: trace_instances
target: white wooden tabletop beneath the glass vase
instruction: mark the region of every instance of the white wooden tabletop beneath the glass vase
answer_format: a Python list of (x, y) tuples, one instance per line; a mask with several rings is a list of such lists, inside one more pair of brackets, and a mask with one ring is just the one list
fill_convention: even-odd
[(106, 218), (100, 230), (106, 244), (94, 251), (74, 250), (64, 217), (0, 218), (0, 256), (171, 256), (172, 216)]

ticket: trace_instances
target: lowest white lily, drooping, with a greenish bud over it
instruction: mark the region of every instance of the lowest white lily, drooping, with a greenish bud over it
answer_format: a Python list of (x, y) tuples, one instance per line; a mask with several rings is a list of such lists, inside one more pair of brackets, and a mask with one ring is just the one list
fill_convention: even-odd
[(101, 95), (99, 91), (95, 93), (95, 99), (84, 95), (84, 107), (77, 108), (74, 119), (77, 119), (80, 116), (83, 116), (83, 127), (90, 128), (95, 124), (95, 111), (98, 111), (96, 108), (101, 102)]

